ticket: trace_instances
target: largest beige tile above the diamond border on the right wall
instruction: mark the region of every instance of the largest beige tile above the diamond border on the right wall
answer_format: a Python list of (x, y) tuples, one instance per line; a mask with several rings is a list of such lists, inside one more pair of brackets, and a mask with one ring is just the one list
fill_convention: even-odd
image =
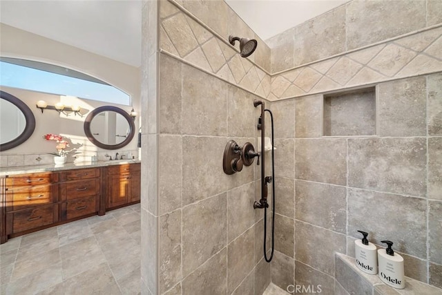
[(425, 1), (352, 1), (347, 4), (347, 50), (423, 27)]

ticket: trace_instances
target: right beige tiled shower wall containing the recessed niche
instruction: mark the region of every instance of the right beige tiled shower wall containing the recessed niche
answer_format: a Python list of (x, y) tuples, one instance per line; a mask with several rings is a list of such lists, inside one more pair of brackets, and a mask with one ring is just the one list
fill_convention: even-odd
[[(274, 38), (284, 45), (271, 47), (273, 71), (290, 67), (289, 53), (302, 55), (294, 50), (294, 39), (305, 46), (325, 48), (318, 56), (302, 59), (301, 64), (338, 55), (271, 78), (278, 237), (271, 272), (273, 283), (283, 289), (293, 282), (320, 284), (323, 292), (334, 294), (335, 287), (340, 288), (334, 281), (334, 253), (354, 256), (358, 229), (368, 231), (378, 245), (383, 239), (392, 240), (394, 249), (405, 258), (406, 276), (442, 287), (440, 3), (351, 1)], [(385, 15), (408, 10), (416, 17), (403, 21), (403, 17)], [(356, 36), (352, 26), (365, 23), (368, 15), (377, 15), (375, 22), (383, 26), (361, 27), (359, 32), (364, 35)], [(321, 30), (331, 34), (329, 39), (312, 41), (307, 28), (319, 24), (346, 32), (341, 36), (345, 46), (330, 43), (340, 41), (332, 29)], [(418, 29), (422, 31), (382, 42)], [(298, 35), (291, 35), (293, 32)], [(369, 46), (373, 42), (378, 44)], [(358, 46), (367, 47), (345, 53)], [(280, 68), (275, 68), (278, 64)], [(285, 93), (290, 87), (295, 89), (297, 82), (302, 91)], [(343, 93), (353, 86), (376, 89), (376, 134), (323, 136), (323, 95)], [(285, 97), (288, 99), (282, 99)], [(365, 102), (356, 99), (351, 103), (359, 106)], [(341, 115), (338, 121), (367, 117), (365, 107), (349, 109), (352, 113)], [(352, 125), (349, 123), (347, 126)], [(293, 164), (287, 155), (293, 156)]]

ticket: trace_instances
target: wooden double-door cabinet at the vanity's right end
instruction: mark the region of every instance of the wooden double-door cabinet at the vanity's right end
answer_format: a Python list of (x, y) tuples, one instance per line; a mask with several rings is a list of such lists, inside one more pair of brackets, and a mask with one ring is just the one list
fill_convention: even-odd
[(106, 209), (140, 202), (140, 163), (108, 166), (106, 180)]

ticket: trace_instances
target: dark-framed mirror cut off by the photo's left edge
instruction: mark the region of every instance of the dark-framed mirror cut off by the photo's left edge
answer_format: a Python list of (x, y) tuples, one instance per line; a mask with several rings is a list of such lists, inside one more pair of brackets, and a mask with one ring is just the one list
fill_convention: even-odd
[(14, 95), (0, 91), (0, 112), (0, 151), (19, 146), (34, 133), (34, 114)]

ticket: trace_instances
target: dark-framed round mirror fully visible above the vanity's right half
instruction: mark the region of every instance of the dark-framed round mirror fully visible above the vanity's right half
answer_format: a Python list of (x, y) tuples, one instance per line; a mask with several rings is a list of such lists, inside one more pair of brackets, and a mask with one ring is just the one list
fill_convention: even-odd
[(133, 139), (133, 118), (117, 106), (99, 106), (84, 121), (84, 133), (102, 149), (121, 149)]

